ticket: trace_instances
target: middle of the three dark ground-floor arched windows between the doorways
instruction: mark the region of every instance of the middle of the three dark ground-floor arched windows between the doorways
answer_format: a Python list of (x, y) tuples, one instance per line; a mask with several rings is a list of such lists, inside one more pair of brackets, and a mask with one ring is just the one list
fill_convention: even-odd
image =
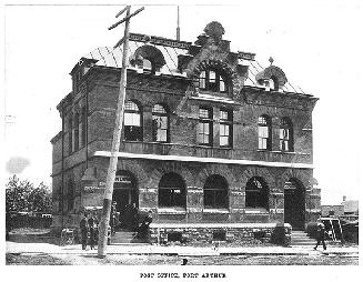
[(206, 209), (228, 209), (228, 182), (221, 175), (210, 175), (203, 188), (204, 208)]

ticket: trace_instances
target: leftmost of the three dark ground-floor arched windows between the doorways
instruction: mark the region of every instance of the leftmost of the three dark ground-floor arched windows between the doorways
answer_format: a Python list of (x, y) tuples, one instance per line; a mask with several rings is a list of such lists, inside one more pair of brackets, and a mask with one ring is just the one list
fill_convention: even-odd
[(159, 182), (159, 207), (185, 208), (185, 183), (174, 172), (164, 174)]

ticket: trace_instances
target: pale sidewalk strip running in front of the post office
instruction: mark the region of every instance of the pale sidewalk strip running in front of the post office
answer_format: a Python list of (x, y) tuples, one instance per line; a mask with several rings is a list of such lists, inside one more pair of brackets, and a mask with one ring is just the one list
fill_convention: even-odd
[[(7, 242), (7, 253), (48, 253), (48, 254), (97, 254), (97, 250), (83, 251), (80, 244), (59, 246), (48, 243), (16, 243)], [(118, 244), (108, 245), (108, 254), (164, 254), (179, 256), (205, 256), (205, 255), (359, 255), (357, 246), (327, 246), (317, 251), (312, 246), (162, 246), (149, 244)]]

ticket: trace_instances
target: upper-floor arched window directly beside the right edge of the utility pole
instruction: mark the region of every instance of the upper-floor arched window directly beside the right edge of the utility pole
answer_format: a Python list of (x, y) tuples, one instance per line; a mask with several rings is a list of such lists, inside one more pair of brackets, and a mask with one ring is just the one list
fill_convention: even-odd
[(132, 101), (124, 104), (124, 139), (127, 141), (142, 141), (141, 111)]

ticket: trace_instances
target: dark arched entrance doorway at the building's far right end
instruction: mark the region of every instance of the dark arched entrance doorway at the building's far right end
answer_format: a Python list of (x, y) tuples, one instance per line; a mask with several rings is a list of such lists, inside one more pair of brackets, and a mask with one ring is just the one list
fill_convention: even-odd
[(290, 180), (284, 187), (284, 222), (290, 223), (293, 229), (304, 229), (305, 223), (305, 199), (302, 183)]

